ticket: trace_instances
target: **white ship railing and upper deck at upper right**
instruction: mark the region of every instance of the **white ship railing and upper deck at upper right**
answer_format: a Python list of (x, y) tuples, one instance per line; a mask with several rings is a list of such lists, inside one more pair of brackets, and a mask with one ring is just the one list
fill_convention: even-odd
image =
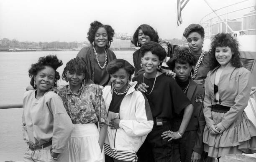
[[(246, 1), (248, 1), (248, 3)], [(244, 5), (245, 3), (247, 3), (246, 6)], [(228, 9), (230, 7), (233, 7), (236, 9), (228, 11)], [(249, 0), (244, 0), (241, 2), (233, 3), (231, 5), (221, 7), (217, 10), (212, 9), (212, 12), (205, 15), (205, 17), (203, 17), (200, 20), (200, 24), (205, 28), (205, 38), (209, 38), (212, 35), (215, 35), (219, 32), (226, 32), (226, 33), (240, 32), (243, 34), (244, 32), (248, 32), (248, 31), (256, 31), (256, 28), (254, 28), (255, 25), (251, 25), (249, 27), (246, 26), (246, 28), (243, 25), (244, 19), (246, 17), (251, 17), (251, 16), (255, 17), (256, 16), (255, 13), (249, 12), (249, 10), (256, 11), (255, 9), (256, 9), (256, 4), (251, 4), (251, 2)], [(248, 11), (246, 11), (246, 13), (249, 13), (249, 14), (241, 16), (242, 10), (248, 10)], [(213, 14), (215, 14), (215, 15), (213, 15)], [(237, 16), (237, 14), (239, 14), (240, 16)], [(240, 19), (241, 19), (241, 21), (238, 21)], [(215, 22), (213, 22), (213, 21), (215, 21)], [(241, 22), (241, 25), (239, 25), (239, 27), (241, 26), (241, 29), (237, 30), (237, 29), (234, 29), (235, 27), (230, 27), (230, 26), (232, 26), (231, 22), (234, 22), (234, 21)], [(230, 22), (230, 23), (228, 23), (228, 22)], [(218, 26), (218, 24), (220, 24), (220, 25)], [(224, 24), (225, 26), (223, 26), (222, 24)], [(218, 32), (212, 31), (212, 30), (214, 30), (214, 27), (215, 27), (215, 30), (218, 30)], [(223, 29), (223, 28), (225, 28), (225, 29)], [(213, 32), (216, 32), (216, 33), (213, 33)]]

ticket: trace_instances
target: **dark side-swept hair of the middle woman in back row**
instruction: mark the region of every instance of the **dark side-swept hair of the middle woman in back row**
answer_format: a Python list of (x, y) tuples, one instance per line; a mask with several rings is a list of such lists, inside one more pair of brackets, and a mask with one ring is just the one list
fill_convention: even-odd
[(159, 36), (157, 34), (157, 32), (153, 29), (153, 27), (151, 27), (150, 25), (147, 24), (142, 24), (140, 25), (135, 33), (133, 34), (133, 40), (132, 43), (136, 46), (136, 47), (141, 47), (141, 44), (138, 44), (138, 31), (142, 30), (144, 35), (148, 35), (150, 37), (151, 41), (157, 42), (159, 39)]

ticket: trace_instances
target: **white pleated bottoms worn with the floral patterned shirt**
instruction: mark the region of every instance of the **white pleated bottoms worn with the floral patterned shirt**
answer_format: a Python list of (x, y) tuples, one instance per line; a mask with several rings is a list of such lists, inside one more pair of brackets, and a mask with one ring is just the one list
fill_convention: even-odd
[(69, 162), (105, 162), (100, 150), (100, 132), (95, 124), (74, 124), (69, 143)]

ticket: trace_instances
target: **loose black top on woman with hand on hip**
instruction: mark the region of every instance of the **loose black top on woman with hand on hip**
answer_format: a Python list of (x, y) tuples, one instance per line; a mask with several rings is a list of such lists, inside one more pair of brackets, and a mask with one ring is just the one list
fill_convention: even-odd
[[(144, 83), (148, 85), (148, 92), (154, 84), (155, 78), (144, 78)], [(138, 84), (143, 82), (143, 74), (133, 77), (133, 81), (138, 81)], [(162, 117), (172, 119), (174, 112), (179, 114), (191, 102), (180, 89), (177, 82), (171, 77), (163, 74), (156, 78), (154, 90), (150, 95), (145, 93), (153, 117)]]

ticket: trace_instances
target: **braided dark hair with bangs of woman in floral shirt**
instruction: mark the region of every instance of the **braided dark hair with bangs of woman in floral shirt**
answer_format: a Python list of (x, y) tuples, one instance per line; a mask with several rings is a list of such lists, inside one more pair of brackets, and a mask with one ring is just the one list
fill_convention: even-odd
[(85, 83), (87, 83), (90, 80), (89, 74), (86, 69), (86, 65), (79, 57), (69, 60), (69, 62), (67, 62), (67, 64), (66, 64), (66, 67), (64, 67), (61, 78), (62, 78), (62, 80), (65, 80), (66, 82), (68, 82), (67, 71), (84, 73)]

